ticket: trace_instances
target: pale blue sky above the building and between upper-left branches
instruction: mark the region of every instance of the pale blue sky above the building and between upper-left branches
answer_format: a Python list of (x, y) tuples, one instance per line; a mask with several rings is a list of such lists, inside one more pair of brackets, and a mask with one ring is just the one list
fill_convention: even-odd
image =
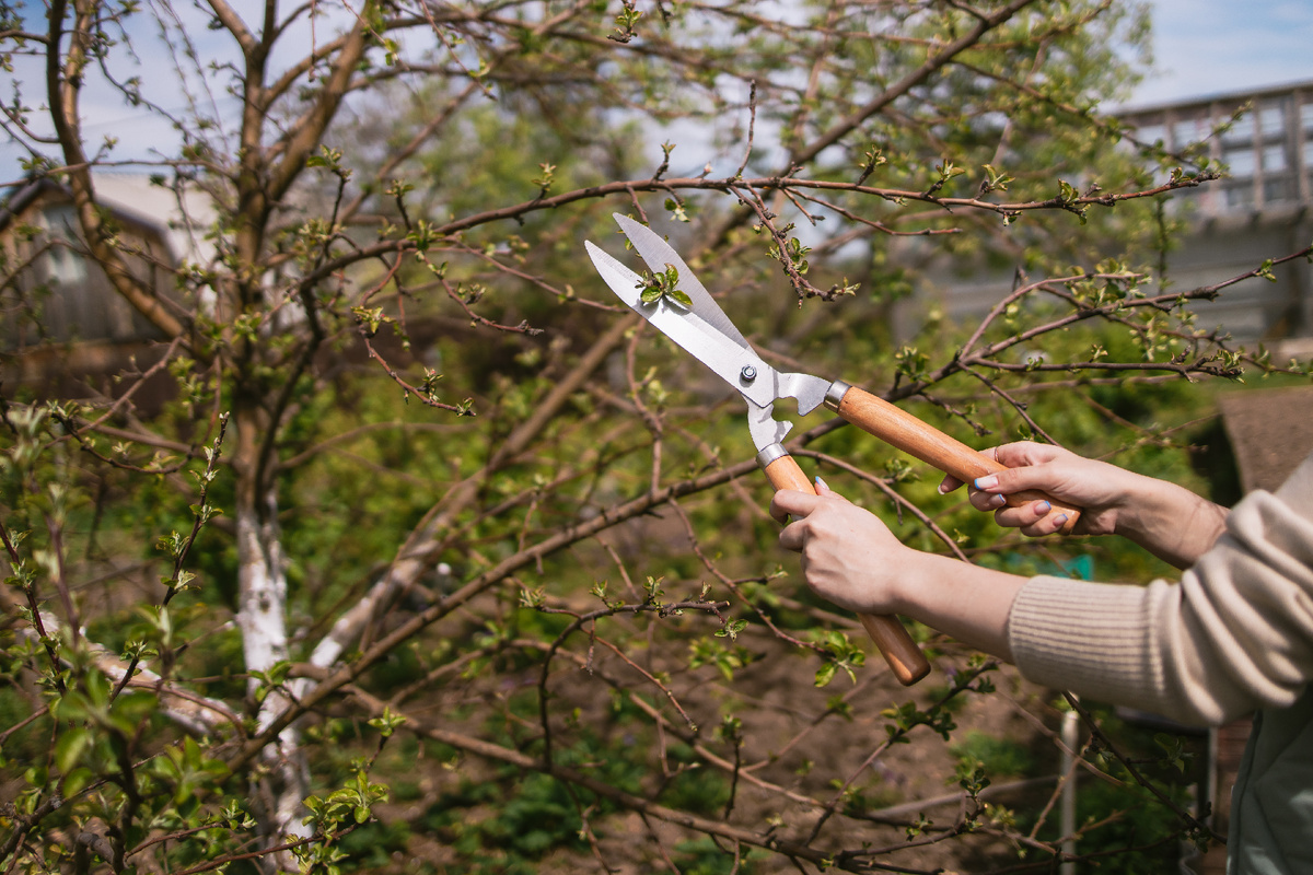
[[(38, 0), (29, 0), (39, 9)], [(1313, 81), (1313, 0), (1149, 0), (1153, 14), (1155, 72), (1136, 89), (1128, 106), (1142, 108), (1268, 85)], [(206, 34), (197, 29), (204, 52)], [(18, 72), (18, 75), (22, 75)], [(172, 80), (172, 72), (167, 73)], [(236, 105), (210, 94), (218, 110)], [(114, 155), (142, 155), (151, 144), (175, 139), (164, 122), (142, 123), (117, 98), (85, 102), (84, 130), (95, 143), (117, 136)], [(0, 142), (0, 185), (18, 178), (18, 157)], [(135, 156), (135, 155), (134, 155)]]

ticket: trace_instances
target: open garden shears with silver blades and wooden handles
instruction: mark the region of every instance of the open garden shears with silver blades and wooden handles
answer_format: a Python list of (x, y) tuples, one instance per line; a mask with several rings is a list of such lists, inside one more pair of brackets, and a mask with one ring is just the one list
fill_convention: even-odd
[[(664, 237), (645, 224), (614, 214), (621, 231), (651, 272), (639, 275), (592, 243), (588, 257), (611, 290), (634, 312), (733, 386), (747, 401), (748, 433), (756, 460), (775, 489), (814, 493), (811, 481), (784, 447), (793, 424), (775, 417), (775, 401), (792, 397), (800, 416), (822, 404), (886, 443), (927, 462), (964, 483), (1003, 470), (965, 443), (922, 422), (881, 397), (843, 380), (779, 371), (752, 349), (693, 272)], [(1070, 531), (1078, 512), (1039, 492), (1008, 496), (1008, 504), (1048, 500), (1050, 513), (1066, 513)], [(906, 627), (897, 617), (859, 615), (899, 682), (911, 685), (930, 672)]]

